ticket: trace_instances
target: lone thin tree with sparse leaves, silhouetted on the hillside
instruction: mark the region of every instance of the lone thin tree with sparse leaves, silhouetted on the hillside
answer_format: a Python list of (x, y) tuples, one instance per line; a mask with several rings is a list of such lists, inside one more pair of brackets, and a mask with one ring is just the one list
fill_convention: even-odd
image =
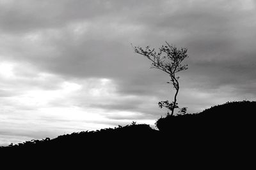
[[(172, 111), (171, 116), (173, 116), (173, 112), (175, 108), (179, 108), (177, 103), (177, 95), (179, 93), (179, 76), (176, 76), (176, 73), (182, 70), (188, 69), (188, 64), (181, 64), (181, 62), (188, 57), (188, 49), (187, 48), (177, 48), (175, 46), (169, 45), (166, 43), (166, 46), (162, 45), (159, 48), (159, 52), (156, 50), (150, 49), (150, 46), (147, 46), (145, 50), (140, 46), (132, 46), (134, 51), (140, 55), (147, 57), (151, 62), (151, 67), (154, 69), (160, 69), (165, 73), (168, 73), (170, 76), (170, 81), (167, 83), (172, 82), (173, 88), (176, 90), (174, 101), (169, 103), (169, 101), (161, 101), (158, 103), (160, 108), (167, 108), (168, 110)], [(185, 114), (187, 108), (181, 108), (179, 113)], [(169, 115), (169, 111), (168, 111)]]

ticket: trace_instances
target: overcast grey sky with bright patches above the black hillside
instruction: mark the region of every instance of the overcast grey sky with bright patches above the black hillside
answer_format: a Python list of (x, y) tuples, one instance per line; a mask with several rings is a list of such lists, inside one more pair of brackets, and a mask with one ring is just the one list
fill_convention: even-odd
[(134, 46), (188, 48), (177, 103), (199, 113), (255, 100), (256, 1), (0, 0), (0, 146), (154, 127), (168, 74)]

